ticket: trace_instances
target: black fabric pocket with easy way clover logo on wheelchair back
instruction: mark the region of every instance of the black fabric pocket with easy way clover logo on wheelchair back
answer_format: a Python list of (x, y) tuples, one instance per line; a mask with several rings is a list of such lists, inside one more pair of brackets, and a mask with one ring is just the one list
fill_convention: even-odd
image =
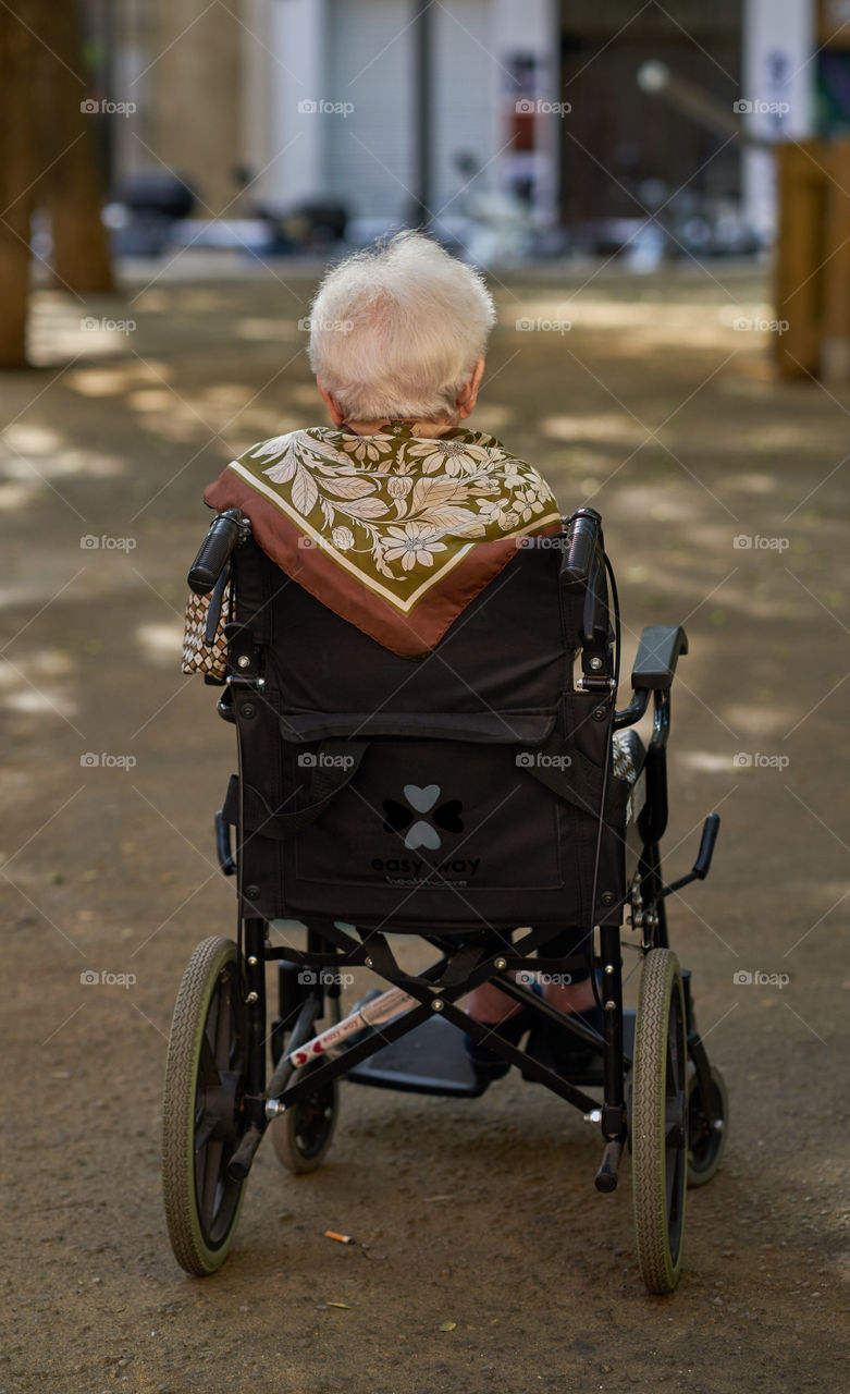
[[(555, 726), (553, 712), (280, 712), (273, 754), (268, 742), (244, 747), (252, 913), (435, 930), (535, 914), (582, 923), (595, 800), (581, 758), (581, 796), (541, 779), (573, 764)], [(360, 763), (327, 767), (348, 744)], [(333, 796), (318, 797), (329, 783)]]

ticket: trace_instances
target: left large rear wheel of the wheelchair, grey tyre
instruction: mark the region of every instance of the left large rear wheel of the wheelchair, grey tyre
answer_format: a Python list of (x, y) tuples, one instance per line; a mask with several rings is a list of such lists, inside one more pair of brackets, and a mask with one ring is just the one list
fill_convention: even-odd
[(245, 1125), (245, 1011), (231, 940), (203, 940), (183, 976), (166, 1064), (163, 1196), (174, 1257), (195, 1277), (233, 1243), (245, 1182), (227, 1164)]

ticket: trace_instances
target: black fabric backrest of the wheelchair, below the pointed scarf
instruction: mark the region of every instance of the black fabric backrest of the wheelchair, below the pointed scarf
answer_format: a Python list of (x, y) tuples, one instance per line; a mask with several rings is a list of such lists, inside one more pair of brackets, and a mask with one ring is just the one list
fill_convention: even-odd
[[(556, 545), (520, 546), (408, 659), (254, 541), (234, 552), (242, 913), (411, 933), (619, 921), (628, 785), (613, 694), (574, 683), (587, 605), (560, 563)], [(602, 652), (603, 588), (602, 573)]]

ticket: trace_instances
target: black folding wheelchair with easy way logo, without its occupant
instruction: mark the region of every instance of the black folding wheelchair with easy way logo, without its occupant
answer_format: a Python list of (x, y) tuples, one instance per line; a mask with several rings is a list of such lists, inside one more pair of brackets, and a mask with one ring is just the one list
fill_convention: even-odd
[[(219, 599), (226, 580), (227, 675), (206, 682), (237, 735), (238, 775), (216, 814), (237, 937), (198, 945), (174, 1009), (163, 1189), (178, 1263), (201, 1277), (224, 1262), (266, 1131), (290, 1171), (322, 1163), (340, 1082), (481, 1096), (489, 1079), (465, 1033), (599, 1128), (599, 1192), (616, 1189), (630, 1150), (640, 1270), (649, 1292), (673, 1291), (687, 1188), (715, 1175), (727, 1135), (665, 913), (708, 874), (719, 817), (686, 875), (665, 882), (659, 853), (684, 630), (644, 630), (617, 710), (619, 605), (592, 509), (518, 539), (419, 659), (286, 576), (235, 509), (213, 520), (190, 572), (196, 594)], [(644, 742), (634, 728), (649, 705)], [(419, 973), (392, 942), (408, 935), (433, 951)], [(637, 1011), (623, 1006), (627, 951), (642, 960)], [(343, 1016), (355, 967), (389, 986)], [(599, 1032), (535, 991), (588, 972)], [(548, 1040), (580, 1047), (575, 1069), (463, 1011), (484, 983)]]

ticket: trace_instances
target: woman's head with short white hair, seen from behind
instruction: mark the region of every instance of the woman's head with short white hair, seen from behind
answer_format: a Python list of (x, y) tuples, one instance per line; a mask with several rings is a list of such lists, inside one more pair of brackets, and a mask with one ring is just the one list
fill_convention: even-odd
[(309, 362), (348, 421), (457, 420), (495, 319), (478, 272), (422, 233), (399, 233), (327, 272)]

